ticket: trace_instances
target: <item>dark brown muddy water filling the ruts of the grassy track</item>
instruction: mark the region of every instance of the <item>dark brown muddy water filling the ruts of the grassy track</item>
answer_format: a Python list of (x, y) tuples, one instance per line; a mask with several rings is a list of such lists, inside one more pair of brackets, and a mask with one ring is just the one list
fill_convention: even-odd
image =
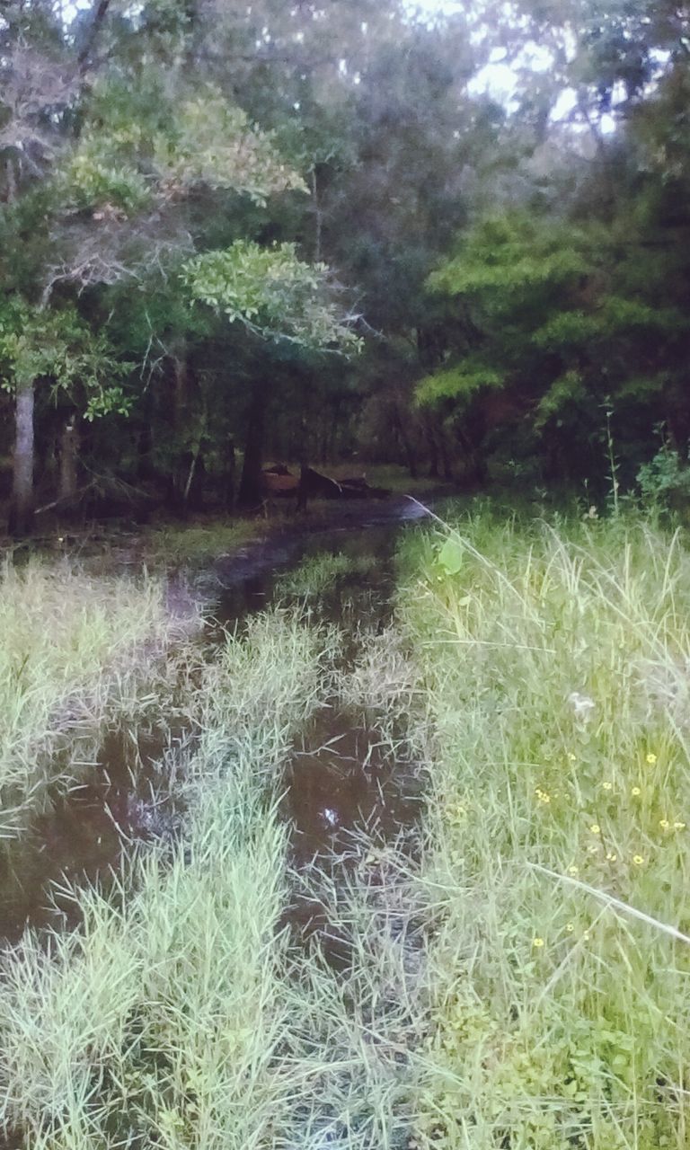
[[(396, 539), (406, 522), (422, 516), (419, 506), (392, 501), (365, 514), (347, 508), (348, 522), (327, 529), (292, 530), (241, 549), (213, 565), (220, 589), (210, 605), (206, 641), (217, 642), (228, 627), (261, 611), (281, 595), (281, 575), (302, 560), (345, 553), (367, 560), (366, 575), (344, 575), (309, 604), (320, 618), (354, 634), (360, 624), (381, 630), (390, 619)], [(175, 581), (171, 580), (175, 599)], [(164, 782), (189, 752), (189, 731), (143, 728), (110, 731), (91, 776), (48, 813), (37, 818), (21, 844), (0, 856), (0, 946), (15, 944), (26, 925), (75, 925), (67, 883), (107, 881), (132, 843), (164, 838), (178, 830)], [(296, 742), (286, 769), (283, 813), (293, 827), (293, 861), (347, 859), (358, 829), (394, 838), (414, 821), (420, 783), (414, 762), (400, 759), (361, 715), (324, 707)], [(305, 935), (325, 929), (317, 899), (296, 896), (293, 927)]]

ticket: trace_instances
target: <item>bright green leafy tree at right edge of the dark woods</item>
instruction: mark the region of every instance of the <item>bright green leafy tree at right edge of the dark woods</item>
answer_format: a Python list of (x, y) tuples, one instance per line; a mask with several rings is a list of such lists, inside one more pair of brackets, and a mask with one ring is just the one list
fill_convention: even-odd
[(454, 301), (455, 345), (417, 398), (454, 404), (473, 463), (501, 404), (528, 420), (552, 478), (600, 470), (605, 407), (623, 439), (645, 424), (651, 437), (683, 377), (690, 324), (645, 252), (622, 222), (612, 232), (513, 213), (478, 223), (430, 277)]

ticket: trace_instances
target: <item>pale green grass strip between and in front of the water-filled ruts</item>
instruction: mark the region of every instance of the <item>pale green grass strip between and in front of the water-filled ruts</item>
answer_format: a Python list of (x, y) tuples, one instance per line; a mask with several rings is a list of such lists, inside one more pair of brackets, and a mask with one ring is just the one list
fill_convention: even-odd
[(5, 960), (0, 1117), (26, 1148), (402, 1144), (414, 988), (385, 890), (334, 888), (350, 974), (290, 954), (279, 930), (286, 830), (269, 783), (334, 656), (332, 629), (294, 613), (229, 637), (194, 669), (184, 841), (139, 848), (117, 897), (76, 894), (79, 933), (26, 935)]

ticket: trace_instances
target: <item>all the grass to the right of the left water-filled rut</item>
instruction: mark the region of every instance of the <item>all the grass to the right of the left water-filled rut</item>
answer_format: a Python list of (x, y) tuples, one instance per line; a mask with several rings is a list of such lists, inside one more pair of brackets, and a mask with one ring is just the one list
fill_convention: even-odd
[[(23, 1150), (687, 1150), (690, 553), (483, 505), (399, 572), (383, 634), (283, 606), (179, 657), (179, 843), (2, 964)], [(291, 875), (283, 767), (334, 705), (423, 756), (421, 842)], [(345, 969), (284, 929), (296, 884)]]

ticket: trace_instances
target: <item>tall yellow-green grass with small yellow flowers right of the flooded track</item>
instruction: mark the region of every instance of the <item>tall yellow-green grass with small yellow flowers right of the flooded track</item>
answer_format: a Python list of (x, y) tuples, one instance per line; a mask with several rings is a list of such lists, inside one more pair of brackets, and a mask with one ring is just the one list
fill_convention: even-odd
[(435, 747), (416, 1143), (688, 1145), (690, 554), (466, 515), (407, 549)]

